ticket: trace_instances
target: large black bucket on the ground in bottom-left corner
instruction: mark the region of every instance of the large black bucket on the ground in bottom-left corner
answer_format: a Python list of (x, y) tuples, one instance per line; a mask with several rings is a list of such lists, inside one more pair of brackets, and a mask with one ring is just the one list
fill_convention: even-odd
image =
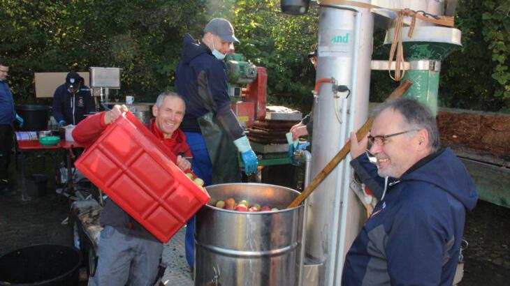
[(13, 250), (0, 257), (0, 285), (78, 285), (82, 257), (78, 249), (40, 244)]

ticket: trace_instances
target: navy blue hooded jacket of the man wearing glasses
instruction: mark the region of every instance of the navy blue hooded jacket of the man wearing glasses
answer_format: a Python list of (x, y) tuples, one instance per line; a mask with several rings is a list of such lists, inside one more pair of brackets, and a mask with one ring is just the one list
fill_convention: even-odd
[[(371, 174), (369, 188), (384, 181), (366, 154), (351, 165), (360, 177)], [(478, 200), (471, 176), (443, 149), (390, 181), (347, 253), (342, 285), (451, 286), (466, 211)]]

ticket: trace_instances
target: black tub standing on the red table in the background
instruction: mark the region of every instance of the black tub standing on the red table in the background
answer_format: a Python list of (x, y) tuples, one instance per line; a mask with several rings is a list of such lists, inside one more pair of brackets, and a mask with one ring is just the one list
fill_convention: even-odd
[(46, 105), (16, 105), (16, 112), (23, 119), (23, 127), (20, 130), (48, 130), (50, 109), (51, 107)]

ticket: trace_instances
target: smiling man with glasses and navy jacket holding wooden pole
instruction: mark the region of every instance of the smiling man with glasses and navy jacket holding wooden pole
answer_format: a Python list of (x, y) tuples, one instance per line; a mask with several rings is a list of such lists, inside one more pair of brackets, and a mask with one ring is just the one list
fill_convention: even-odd
[(351, 166), (379, 203), (347, 253), (342, 285), (452, 285), (476, 186), (441, 148), (427, 107), (401, 98), (373, 117), (370, 135), (358, 142), (351, 134)]

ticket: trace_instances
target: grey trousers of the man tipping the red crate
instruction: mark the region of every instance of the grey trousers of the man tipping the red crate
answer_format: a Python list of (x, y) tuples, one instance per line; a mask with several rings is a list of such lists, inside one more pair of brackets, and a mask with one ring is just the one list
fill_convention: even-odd
[(99, 261), (89, 286), (149, 286), (158, 272), (163, 243), (140, 239), (106, 225), (99, 236)]

